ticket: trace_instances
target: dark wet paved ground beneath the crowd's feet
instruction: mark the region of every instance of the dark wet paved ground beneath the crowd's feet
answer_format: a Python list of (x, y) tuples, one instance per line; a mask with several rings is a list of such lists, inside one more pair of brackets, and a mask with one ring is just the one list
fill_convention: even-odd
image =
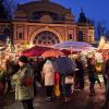
[[(89, 96), (88, 86), (84, 90), (75, 90), (71, 95), (69, 104), (56, 99), (51, 102), (45, 101), (45, 89), (38, 89), (38, 96), (34, 99), (35, 109), (100, 109), (104, 104), (104, 86), (96, 85), (96, 95)], [(14, 101), (14, 94), (8, 94), (3, 98), (0, 109), (23, 109), (21, 102)]]

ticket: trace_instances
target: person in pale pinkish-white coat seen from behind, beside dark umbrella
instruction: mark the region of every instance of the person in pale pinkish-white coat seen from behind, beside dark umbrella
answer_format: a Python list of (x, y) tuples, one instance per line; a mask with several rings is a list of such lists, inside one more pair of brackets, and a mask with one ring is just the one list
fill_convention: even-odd
[(47, 100), (52, 99), (52, 89), (55, 86), (55, 68), (51, 59), (48, 59), (43, 66), (43, 75), (45, 78)]

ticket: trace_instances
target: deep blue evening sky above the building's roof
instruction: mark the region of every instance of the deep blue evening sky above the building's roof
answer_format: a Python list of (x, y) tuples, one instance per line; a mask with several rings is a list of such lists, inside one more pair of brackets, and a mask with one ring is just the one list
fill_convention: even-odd
[[(35, 0), (15, 0), (19, 3), (25, 3)], [(109, 0), (51, 0), (65, 8), (71, 8), (75, 16), (78, 17), (81, 9), (84, 10), (88, 19), (94, 20), (96, 23), (100, 22), (109, 29)]]

